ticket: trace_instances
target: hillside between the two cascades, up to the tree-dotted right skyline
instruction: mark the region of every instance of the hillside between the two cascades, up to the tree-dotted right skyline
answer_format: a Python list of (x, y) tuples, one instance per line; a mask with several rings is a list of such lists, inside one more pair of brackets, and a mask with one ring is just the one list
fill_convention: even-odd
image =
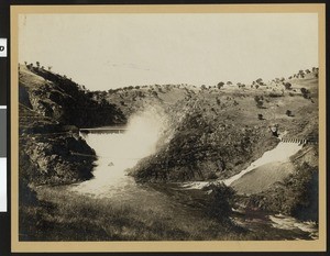
[(174, 136), (131, 174), (153, 182), (223, 179), (275, 147), (270, 126), (284, 137), (317, 140), (318, 78), (288, 82), (205, 88), (177, 102)]

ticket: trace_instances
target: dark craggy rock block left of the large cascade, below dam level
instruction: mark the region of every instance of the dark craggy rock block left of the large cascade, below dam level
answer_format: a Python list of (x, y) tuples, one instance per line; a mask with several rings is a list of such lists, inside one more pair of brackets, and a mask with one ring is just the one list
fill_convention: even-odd
[(20, 148), (20, 170), (32, 169), (26, 174), (30, 183), (63, 185), (92, 177), (95, 152), (82, 140), (28, 135), (21, 137)]

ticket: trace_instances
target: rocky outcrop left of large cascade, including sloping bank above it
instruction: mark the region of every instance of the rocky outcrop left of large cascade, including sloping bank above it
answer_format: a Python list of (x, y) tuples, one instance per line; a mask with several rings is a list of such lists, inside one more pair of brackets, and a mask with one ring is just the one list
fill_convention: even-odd
[(92, 177), (95, 152), (78, 129), (20, 105), (20, 177), (30, 185), (61, 185)]

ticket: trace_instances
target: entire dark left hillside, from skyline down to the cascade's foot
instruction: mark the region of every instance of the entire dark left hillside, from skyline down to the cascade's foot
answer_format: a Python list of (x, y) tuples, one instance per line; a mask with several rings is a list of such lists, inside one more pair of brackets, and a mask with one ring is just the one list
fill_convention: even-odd
[(124, 123), (122, 112), (51, 71), (21, 67), (19, 75), (21, 185), (64, 185), (91, 178), (96, 155), (79, 137), (78, 127)]

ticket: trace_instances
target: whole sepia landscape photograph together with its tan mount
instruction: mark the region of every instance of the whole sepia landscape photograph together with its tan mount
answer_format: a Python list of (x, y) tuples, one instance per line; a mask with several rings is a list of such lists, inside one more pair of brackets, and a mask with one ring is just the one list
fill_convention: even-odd
[(324, 7), (263, 8), (12, 7), (13, 245), (322, 248)]

